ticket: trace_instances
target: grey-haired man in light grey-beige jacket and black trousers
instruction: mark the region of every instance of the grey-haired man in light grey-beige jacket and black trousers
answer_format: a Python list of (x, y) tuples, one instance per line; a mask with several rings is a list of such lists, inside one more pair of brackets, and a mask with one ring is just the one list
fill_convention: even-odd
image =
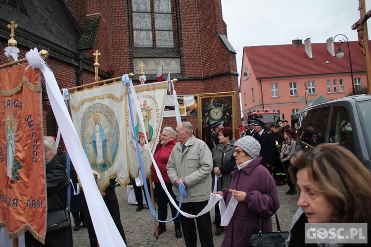
[[(206, 143), (193, 136), (193, 126), (189, 122), (178, 124), (175, 136), (178, 143), (170, 155), (167, 172), (177, 200), (180, 200), (180, 180), (185, 186), (187, 196), (183, 198), (182, 211), (197, 215), (210, 198), (213, 157)], [(210, 212), (195, 219), (201, 246), (213, 247)], [(182, 215), (181, 222), (185, 245), (196, 247), (197, 233), (194, 219)]]

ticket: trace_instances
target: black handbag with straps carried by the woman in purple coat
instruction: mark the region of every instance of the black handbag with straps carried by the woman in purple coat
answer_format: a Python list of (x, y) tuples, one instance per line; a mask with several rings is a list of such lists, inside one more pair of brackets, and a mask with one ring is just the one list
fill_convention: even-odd
[(279, 227), (276, 206), (273, 203), (273, 209), (275, 210), (277, 232), (263, 232), (262, 217), (259, 219), (259, 232), (253, 233), (250, 238), (250, 247), (284, 247), (285, 240), (288, 238), (288, 232), (281, 232)]

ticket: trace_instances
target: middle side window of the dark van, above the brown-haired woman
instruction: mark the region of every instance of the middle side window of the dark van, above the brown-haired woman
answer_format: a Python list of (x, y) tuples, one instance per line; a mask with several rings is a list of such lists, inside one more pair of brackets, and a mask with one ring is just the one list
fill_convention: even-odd
[[(344, 107), (334, 107), (331, 119), (329, 143), (340, 143), (353, 147), (352, 124)], [(354, 147), (353, 147), (354, 148)]]

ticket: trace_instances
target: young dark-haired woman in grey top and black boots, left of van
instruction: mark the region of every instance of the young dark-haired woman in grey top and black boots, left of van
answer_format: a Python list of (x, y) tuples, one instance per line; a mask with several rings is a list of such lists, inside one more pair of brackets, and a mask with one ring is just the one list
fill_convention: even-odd
[[(286, 128), (283, 132), (283, 138), (285, 140), (282, 143), (281, 156), (279, 158), (281, 159), (286, 172), (288, 170), (288, 166), (290, 165), (290, 159), (296, 154), (296, 142), (293, 139), (293, 135), (294, 131), (292, 131), (290, 128)], [(295, 195), (297, 192), (289, 174), (287, 174), (287, 185), (289, 190), (286, 192), (286, 195)]]

